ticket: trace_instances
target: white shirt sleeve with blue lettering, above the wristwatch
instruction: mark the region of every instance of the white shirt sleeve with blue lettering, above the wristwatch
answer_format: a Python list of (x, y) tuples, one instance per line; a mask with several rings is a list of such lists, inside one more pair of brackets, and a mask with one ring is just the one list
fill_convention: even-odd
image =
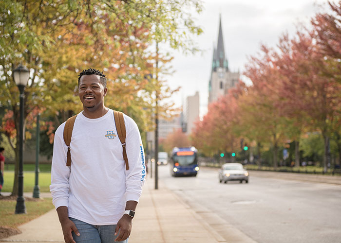
[(126, 152), (129, 163), (129, 170), (126, 171), (126, 201), (138, 202), (142, 186), (146, 180), (146, 162), (143, 144), (138, 127), (128, 116), (125, 117), (127, 136)]

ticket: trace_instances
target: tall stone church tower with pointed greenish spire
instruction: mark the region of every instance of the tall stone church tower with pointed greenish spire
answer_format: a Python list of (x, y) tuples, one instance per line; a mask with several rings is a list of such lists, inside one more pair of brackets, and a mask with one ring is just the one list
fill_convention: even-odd
[(218, 44), (213, 49), (211, 76), (208, 83), (208, 104), (217, 101), (219, 96), (227, 94), (227, 90), (239, 82), (239, 72), (231, 72), (228, 69), (221, 16), (219, 18)]

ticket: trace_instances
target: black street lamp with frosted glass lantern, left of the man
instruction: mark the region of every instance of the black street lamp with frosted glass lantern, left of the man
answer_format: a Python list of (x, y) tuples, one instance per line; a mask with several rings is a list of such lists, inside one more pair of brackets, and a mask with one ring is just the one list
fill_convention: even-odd
[(13, 70), (14, 82), (20, 92), (20, 121), (19, 121), (19, 174), (18, 174), (18, 198), (15, 213), (26, 213), (25, 199), (23, 197), (23, 127), (24, 127), (24, 88), (27, 85), (30, 70), (25, 66), (19, 65)]

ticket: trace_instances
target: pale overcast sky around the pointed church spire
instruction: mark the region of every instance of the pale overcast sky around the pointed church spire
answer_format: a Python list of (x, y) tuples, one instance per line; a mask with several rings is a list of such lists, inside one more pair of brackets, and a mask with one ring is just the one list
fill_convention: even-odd
[[(288, 32), (294, 35), (298, 23), (309, 24), (326, 0), (204, 0), (204, 10), (195, 14), (195, 23), (204, 33), (194, 38), (202, 53), (184, 55), (172, 51), (171, 65), (175, 71), (169, 76), (171, 88), (181, 87), (172, 100), (178, 106), (186, 97), (199, 91), (200, 117), (207, 113), (208, 81), (211, 71), (213, 44), (218, 41), (219, 14), (230, 71), (245, 70), (248, 57), (257, 56), (261, 44), (275, 47), (279, 37)], [(246, 77), (241, 77), (246, 83)]]

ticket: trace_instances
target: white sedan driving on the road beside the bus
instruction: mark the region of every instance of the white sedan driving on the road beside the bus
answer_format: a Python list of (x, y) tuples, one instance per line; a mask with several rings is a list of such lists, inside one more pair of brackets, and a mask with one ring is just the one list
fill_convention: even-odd
[(248, 172), (240, 163), (226, 163), (219, 169), (219, 182), (227, 183), (227, 181), (245, 181), (248, 183)]

